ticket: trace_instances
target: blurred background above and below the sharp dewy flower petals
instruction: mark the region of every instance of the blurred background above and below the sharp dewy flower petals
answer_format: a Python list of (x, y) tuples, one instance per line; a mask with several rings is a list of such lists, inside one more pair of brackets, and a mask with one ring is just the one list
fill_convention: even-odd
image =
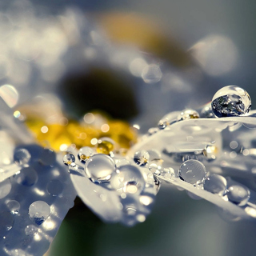
[[(1, 82), (17, 86), (20, 104), (54, 92), (70, 118), (99, 110), (142, 133), (167, 112), (210, 102), (222, 86), (241, 86), (255, 108), (254, 1), (0, 7)], [(209, 202), (162, 186), (149, 218), (133, 228), (101, 222), (77, 198), (47, 255), (254, 255), (255, 238), (255, 223), (221, 218)]]

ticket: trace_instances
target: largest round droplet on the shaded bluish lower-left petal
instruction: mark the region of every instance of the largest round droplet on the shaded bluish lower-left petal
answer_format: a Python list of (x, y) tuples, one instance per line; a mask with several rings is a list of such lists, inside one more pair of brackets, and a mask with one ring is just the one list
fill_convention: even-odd
[(33, 202), (29, 208), (29, 215), (33, 222), (41, 225), (50, 216), (50, 206), (43, 201)]

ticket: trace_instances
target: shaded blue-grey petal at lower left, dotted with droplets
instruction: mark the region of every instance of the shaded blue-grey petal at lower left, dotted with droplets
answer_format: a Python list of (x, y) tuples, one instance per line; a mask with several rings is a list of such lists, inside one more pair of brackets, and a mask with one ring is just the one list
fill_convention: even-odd
[(42, 255), (76, 196), (52, 150), (26, 145), (1, 166), (0, 254)]

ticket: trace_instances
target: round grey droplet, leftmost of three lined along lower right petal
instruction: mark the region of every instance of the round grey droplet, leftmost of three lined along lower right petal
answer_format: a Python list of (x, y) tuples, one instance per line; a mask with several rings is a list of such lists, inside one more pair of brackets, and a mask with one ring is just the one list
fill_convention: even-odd
[(178, 176), (190, 184), (202, 182), (206, 178), (206, 167), (198, 160), (190, 159), (179, 167)]

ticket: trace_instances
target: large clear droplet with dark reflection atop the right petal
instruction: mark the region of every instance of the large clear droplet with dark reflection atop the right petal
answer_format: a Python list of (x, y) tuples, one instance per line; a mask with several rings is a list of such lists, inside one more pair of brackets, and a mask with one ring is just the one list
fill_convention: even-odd
[(246, 114), (250, 111), (250, 96), (238, 86), (226, 86), (214, 94), (211, 102), (216, 117), (232, 117)]

